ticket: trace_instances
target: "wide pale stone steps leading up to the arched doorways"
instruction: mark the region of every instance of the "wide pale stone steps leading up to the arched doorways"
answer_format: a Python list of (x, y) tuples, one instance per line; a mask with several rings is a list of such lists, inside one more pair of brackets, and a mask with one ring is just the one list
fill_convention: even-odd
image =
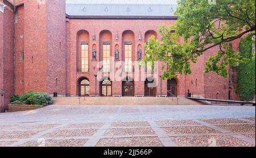
[(184, 97), (54, 97), (55, 105), (203, 105)]

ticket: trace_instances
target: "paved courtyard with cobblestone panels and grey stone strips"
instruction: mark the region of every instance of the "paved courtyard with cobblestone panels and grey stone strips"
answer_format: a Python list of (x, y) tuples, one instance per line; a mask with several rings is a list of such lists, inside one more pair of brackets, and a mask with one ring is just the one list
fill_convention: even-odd
[(0, 113), (0, 146), (255, 146), (255, 107), (51, 105)]

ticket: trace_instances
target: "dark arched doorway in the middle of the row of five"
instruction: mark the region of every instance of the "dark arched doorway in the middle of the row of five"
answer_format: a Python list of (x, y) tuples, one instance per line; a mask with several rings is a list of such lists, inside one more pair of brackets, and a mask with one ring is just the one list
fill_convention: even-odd
[(126, 78), (122, 82), (122, 96), (134, 96), (133, 79)]

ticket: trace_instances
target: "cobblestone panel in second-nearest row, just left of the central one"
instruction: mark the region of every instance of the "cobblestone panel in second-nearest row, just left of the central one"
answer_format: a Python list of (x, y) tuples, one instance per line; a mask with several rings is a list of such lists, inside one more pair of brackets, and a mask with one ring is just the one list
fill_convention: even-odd
[(96, 131), (97, 129), (55, 130), (43, 137), (92, 136)]

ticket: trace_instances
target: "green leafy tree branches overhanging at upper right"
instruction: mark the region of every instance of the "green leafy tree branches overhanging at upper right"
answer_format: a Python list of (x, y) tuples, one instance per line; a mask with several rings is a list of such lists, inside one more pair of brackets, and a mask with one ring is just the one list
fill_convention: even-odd
[[(180, 74), (191, 74), (190, 63), (218, 46), (216, 55), (205, 62), (204, 72), (216, 72), (228, 77), (228, 67), (243, 63), (247, 59), (234, 52), (231, 42), (249, 32), (255, 32), (254, 0), (221, 0), (216, 4), (208, 0), (178, 0), (174, 25), (161, 25), (162, 40), (151, 37), (145, 44), (147, 54), (144, 61), (162, 60), (168, 63), (163, 78), (175, 78)], [(177, 42), (182, 37), (183, 42)], [(241, 52), (242, 53), (242, 52)]]

